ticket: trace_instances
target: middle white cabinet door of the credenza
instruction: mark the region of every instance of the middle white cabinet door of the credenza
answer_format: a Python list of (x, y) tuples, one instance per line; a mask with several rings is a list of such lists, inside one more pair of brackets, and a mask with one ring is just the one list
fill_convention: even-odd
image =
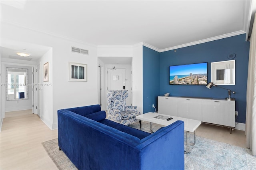
[(202, 121), (202, 99), (178, 98), (177, 116)]

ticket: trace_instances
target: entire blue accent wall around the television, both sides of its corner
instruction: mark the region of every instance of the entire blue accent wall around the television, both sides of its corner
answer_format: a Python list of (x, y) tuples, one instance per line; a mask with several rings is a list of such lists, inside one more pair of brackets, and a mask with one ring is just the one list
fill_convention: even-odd
[[(152, 103), (157, 102), (157, 96), (164, 95), (164, 93), (170, 93), (171, 96), (228, 97), (228, 91), (218, 87), (208, 89), (205, 85), (169, 85), (169, 66), (208, 62), (209, 83), (211, 81), (211, 62), (230, 60), (227, 57), (228, 54), (235, 53), (236, 85), (220, 85), (220, 87), (236, 92), (236, 94), (231, 93), (231, 97), (236, 99), (236, 111), (238, 111), (236, 122), (245, 123), (250, 47), (250, 42), (246, 42), (245, 37), (246, 34), (223, 38), (179, 48), (176, 52), (170, 50), (158, 53), (143, 47), (143, 112), (152, 111)], [(157, 80), (159, 83), (156, 82)]]

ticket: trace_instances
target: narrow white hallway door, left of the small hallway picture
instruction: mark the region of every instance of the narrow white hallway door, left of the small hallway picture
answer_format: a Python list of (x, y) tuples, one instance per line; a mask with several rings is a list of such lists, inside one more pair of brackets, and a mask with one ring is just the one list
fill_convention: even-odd
[(34, 89), (36, 90), (36, 114), (41, 117), (41, 72), (40, 72), (40, 64), (36, 66), (36, 86)]

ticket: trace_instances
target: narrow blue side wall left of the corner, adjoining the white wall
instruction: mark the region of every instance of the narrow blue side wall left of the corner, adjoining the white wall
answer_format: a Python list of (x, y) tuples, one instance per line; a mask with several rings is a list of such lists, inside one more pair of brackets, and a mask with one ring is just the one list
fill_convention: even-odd
[[(155, 112), (159, 95), (159, 52), (143, 46), (143, 113)], [(134, 73), (136, 74), (136, 73)]]

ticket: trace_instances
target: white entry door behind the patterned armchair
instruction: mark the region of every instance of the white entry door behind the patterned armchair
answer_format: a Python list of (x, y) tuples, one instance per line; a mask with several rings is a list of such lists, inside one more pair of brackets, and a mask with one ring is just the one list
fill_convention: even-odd
[(107, 69), (107, 90), (126, 89), (126, 69)]

